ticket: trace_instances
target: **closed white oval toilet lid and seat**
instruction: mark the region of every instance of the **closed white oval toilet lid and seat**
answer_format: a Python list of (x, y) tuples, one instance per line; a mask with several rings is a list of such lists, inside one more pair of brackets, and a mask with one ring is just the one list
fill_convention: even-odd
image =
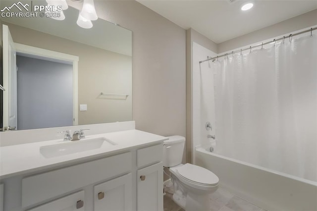
[(175, 170), (182, 179), (200, 186), (215, 186), (219, 182), (214, 173), (198, 165), (186, 163)]

